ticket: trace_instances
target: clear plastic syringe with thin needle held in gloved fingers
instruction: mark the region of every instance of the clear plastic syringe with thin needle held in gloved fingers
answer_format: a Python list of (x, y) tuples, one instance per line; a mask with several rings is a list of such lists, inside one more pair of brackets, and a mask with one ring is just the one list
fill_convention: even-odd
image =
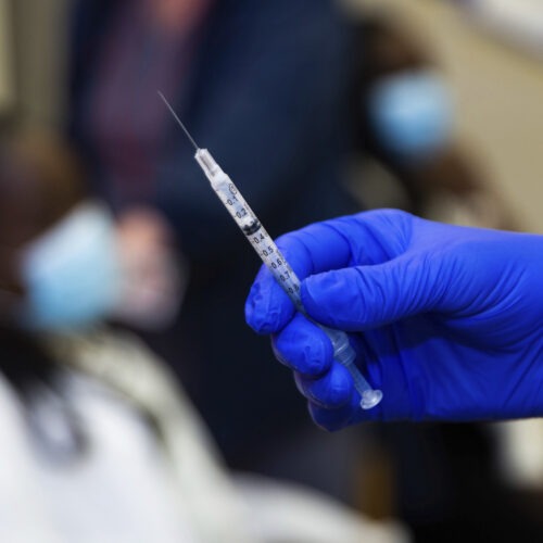
[[(223, 172), (207, 149), (200, 149), (198, 147), (172, 105), (169, 105), (168, 101), (164, 98), (164, 94), (159, 91), (159, 96), (162, 98), (166, 108), (171, 111), (172, 115), (194, 147), (197, 151), (194, 159), (210, 180), (215, 193), (228, 210), (236, 224), (241, 228), (241, 231), (245, 235), (247, 239), (256, 251), (256, 254), (262, 258), (262, 262), (264, 262), (266, 267), (276, 278), (277, 282), (290, 298), (296, 310), (310, 318), (302, 305), (302, 299), (300, 296), (300, 279), (296, 277), (289, 263), (285, 260), (285, 256), (281, 254), (272, 237), (262, 226), (256, 215), (240, 194), (236, 185)], [(375, 407), (381, 401), (382, 392), (380, 390), (372, 389), (359, 372), (354, 363), (356, 354), (349, 342), (346, 333), (341, 330), (333, 330), (319, 325), (314, 320), (312, 321), (321, 328), (330, 339), (333, 346), (334, 359), (349, 370), (356, 391), (361, 395), (361, 407), (363, 409), (370, 409), (371, 407)]]

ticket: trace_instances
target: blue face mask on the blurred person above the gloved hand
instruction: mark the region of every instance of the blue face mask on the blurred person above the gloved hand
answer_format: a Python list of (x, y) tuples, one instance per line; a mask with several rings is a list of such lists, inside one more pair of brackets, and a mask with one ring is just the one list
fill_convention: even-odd
[(397, 157), (431, 157), (450, 141), (453, 106), (442, 78), (430, 71), (403, 72), (379, 81), (369, 116), (381, 146)]

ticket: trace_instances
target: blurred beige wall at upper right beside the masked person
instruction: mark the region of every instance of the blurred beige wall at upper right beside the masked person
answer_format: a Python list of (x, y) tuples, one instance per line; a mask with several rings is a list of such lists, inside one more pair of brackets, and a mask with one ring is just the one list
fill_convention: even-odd
[(485, 36), (443, 0), (344, 0), (388, 9), (431, 45), (456, 97), (457, 131), (522, 226), (543, 232), (543, 63)]

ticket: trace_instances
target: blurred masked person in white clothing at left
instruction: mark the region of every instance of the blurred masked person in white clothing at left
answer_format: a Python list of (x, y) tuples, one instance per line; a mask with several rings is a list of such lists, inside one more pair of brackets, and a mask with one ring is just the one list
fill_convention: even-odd
[(51, 137), (0, 143), (0, 539), (405, 542), (324, 496), (227, 475), (171, 371), (103, 325), (131, 261), (83, 179)]

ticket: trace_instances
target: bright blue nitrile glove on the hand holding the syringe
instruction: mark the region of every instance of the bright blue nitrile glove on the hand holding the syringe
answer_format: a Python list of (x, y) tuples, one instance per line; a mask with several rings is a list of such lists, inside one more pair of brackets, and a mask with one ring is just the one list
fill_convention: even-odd
[(346, 330), (383, 391), (363, 411), (325, 333), (261, 269), (245, 316), (273, 333), (314, 420), (475, 420), (543, 415), (543, 237), (384, 210), (311, 225), (279, 248), (308, 315)]

